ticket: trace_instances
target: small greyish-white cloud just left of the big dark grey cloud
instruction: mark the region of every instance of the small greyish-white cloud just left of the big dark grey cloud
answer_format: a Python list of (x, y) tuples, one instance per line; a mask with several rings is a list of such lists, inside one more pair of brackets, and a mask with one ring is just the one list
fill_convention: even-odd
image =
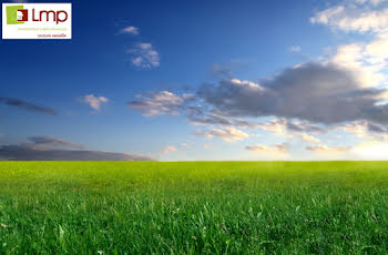
[(192, 94), (176, 95), (169, 91), (151, 92), (146, 95), (137, 95), (137, 100), (131, 101), (129, 106), (145, 116), (176, 115), (185, 103), (192, 99)]

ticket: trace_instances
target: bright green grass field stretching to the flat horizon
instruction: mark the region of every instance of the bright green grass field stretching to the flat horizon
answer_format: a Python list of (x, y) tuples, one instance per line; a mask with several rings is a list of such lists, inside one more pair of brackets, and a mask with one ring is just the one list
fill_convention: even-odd
[(0, 254), (386, 254), (388, 162), (1, 162)]

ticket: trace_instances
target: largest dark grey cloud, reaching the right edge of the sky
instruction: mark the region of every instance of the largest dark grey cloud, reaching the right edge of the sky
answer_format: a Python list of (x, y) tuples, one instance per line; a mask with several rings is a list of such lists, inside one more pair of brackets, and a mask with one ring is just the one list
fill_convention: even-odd
[(376, 105), (385, 93), (364, 89), (353, 72), (338, 65), (307, 62), (261, 84), (236, 79), (206, 83), (198, 96), (226, 116), (274, 115), (330, 124), (358, 119), (387, 122), (388, 106)]

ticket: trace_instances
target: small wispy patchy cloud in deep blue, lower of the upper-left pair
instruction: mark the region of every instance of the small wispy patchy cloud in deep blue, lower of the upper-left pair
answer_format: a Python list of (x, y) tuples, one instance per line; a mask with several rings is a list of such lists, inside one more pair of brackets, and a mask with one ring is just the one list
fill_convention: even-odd
[(159, 53), (151, 43), (137, 43), (129, 53), (132, 64), (137, 68), (151, 69), (160, 65)]

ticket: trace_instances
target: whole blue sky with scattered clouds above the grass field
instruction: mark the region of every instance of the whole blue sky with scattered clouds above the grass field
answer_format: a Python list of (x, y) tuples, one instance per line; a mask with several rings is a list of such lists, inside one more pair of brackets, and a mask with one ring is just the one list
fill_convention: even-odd
[(387, 0), (72, 4), (0, 41), (1, 160), (388, 160)]

